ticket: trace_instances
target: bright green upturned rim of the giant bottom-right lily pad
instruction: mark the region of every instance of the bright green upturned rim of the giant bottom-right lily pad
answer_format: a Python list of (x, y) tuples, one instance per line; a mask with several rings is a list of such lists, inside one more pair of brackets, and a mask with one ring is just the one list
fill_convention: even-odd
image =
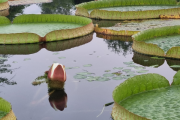
[(113, 99), (115, 103), (112, 110), (113, 119), (126, 120), (124, 118), (128, 118), (138, 120), (149, 120), (145, 117), (138, 116), (128, 111), (118, 103), (135, 94), (144, 93), (159, 88), (171, 87), (173, 85), (180, 85), (180, 71), (178, 71), (174, 75), (173, 82), (171, 84), (165, 77), (155, 73), (137, 75), (135, 77), (125, 80), (113, 91)]

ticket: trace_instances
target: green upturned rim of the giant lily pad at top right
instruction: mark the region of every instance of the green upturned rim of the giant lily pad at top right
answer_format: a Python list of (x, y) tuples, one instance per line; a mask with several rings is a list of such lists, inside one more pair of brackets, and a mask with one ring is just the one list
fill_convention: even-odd
[[(171, 6), (166, 9), (139, 10), (139, 11), (115, 11), (115, 7), (125, 6)], [(172, 8), (174, 6), (174, 8)], [(112, 8), (103, 10), (102, 8)], [(179, 15), (178, 2), (176, 0), (98, 0), (76, 5), (76, 15), (96, 19), (127, 20), (159, 18), (159, 15)], [(92, 10), (92, 12), (88, 12)]]

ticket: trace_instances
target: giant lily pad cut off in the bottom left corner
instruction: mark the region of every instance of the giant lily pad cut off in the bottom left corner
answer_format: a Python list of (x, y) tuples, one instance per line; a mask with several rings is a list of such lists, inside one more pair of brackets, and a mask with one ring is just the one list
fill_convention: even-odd
[(0, 119), (1, 120), (16, 120), (11, 104), (0, 97)]

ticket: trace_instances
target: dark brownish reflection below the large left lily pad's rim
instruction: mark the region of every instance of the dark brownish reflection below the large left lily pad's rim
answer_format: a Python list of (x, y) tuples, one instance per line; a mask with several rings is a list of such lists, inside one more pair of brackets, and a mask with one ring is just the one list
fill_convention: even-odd
[(43, 48), (49, 51), (63, 51), (71, 49), (90, 42), (93, 39), (93, 33), (70, 40), (61, 40), (37, 44), (19, 44), (19, 45), (0, 45), (0, 54), (33, 54)]

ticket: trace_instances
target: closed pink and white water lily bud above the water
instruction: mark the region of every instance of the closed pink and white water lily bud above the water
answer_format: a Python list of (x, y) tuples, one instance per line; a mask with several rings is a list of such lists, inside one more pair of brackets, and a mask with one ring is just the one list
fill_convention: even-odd
[(59, 63), (53, 63), (48, 71), (48, 79), (52, 81), (66, 81), (65, 66)]

